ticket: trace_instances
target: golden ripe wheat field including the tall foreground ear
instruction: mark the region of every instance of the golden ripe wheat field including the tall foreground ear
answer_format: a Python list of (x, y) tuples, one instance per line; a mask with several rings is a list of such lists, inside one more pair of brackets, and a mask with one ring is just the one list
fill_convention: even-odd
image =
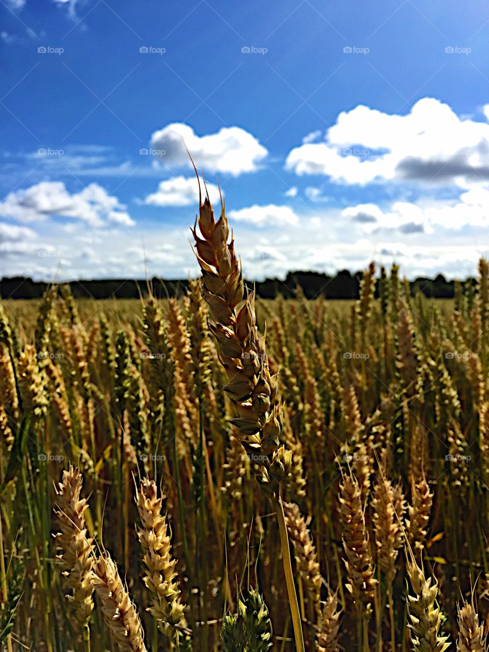
[(1, 649), (485, 650), (488, 262), (261, 301), (236, 237), (205, 200), (185, 296), (1, 305)]

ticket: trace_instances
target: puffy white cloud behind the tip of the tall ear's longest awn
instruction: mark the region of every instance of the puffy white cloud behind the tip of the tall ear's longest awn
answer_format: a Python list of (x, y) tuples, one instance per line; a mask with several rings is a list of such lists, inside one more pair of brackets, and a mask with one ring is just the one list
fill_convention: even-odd
[(151, 147), (164, 151), (162, 159), (168, 166), (192, 166), (185, 146), (198, 168), (233, 176), (257, 170), (267, 156), (267, 149), (238, 126), (223, 127), (208, 136), (197, 136), (191, 126), (172, 123), (151, 136)]

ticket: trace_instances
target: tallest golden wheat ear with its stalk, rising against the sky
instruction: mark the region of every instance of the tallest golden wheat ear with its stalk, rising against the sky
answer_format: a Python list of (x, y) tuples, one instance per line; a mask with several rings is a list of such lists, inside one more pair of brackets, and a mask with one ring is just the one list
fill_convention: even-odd
[(289, 477), (292, 454), (280, 446), (282, 405), (278, 396), (278, 381), (269, 370), (265, 336), (260, 338), (256, 327), (254, 293), (247, 295), (243, 303), (243, 275), (232, 235), (228, 243), (230, 231), (224, 202), (221, 201), (221, 215), (217, 222), (208, 197), (203, 203), (200, 201), (199, 211), (202, 237), (198, 236), (196, 225), (192, 233), (202, 271), (202, 294), (212, 316), (209, 331), (215, 336), (219, 359), (229, 379), (225, 389), (238, 413), (237, 419), (231, 423), (239, 430), (243, 446), (259, 461), (260, 486), (273, 501), (284, 555), (295, 644), (297, 652), (304, 652), (301, 616), (280, 496), (280, 488)]

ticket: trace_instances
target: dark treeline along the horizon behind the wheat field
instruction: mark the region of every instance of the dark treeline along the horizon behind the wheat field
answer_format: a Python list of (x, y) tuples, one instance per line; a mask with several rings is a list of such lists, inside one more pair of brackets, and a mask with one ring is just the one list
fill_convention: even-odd
[[(295, 297), (295, 288), (303, 289), (306, 299), (325, 297), (326, 299), (357, 299), (362, 272), (351, 274), (344, 269), (336, 276), (320, 272), (289, 272), (285, 280), (266, 278), (264, 281), (246, 281), (248, 288), (255, 286), (256, 294), (262, 299), (273, 299), (282, 294), (287, 299)], [(150, 285), (156, 297), (179, 296), (185, 292), (186, 280), (163, 280), (153, 278)], [(3, 299), (40, 299), (50, 284), (33, 281), (23, 276), (13, 276), (0, 280), (0, 297)], [(147, 295), (146, 280), (124, 280), (104, 278), (100, 280), (72, 281), (70, 285), (74, 297), (93, 299), (138, 299)], [(447, 281), (438, 274), (436, 278), (416, 278), (410, 282), (411, 294), (422, 292), (426, 297), (451, 299), (454, 295), (454, 282)], [(377, 293), (376, 293), (377, 295)]]

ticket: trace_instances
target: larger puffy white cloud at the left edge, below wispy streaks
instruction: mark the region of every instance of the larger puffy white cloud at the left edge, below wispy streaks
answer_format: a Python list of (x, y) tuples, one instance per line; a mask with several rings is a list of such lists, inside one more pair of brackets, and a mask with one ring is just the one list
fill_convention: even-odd
[(0, 202), (0, 216), (20, 222), (61, 216), (83, 220), (92, 226), (108, 223), (132, 226), (134, 220), (124, 209), (116, 197), (96, 183), (71, 194), (61, 181), (42, 181), (30, 188), (14, 190)]

